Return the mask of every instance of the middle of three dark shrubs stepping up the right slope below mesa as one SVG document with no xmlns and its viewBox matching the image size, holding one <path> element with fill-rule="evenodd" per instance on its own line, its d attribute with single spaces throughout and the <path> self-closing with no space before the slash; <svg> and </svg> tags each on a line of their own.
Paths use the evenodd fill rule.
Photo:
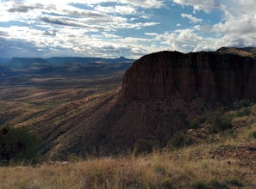
<svg viewBox="0 0 256 189">
<path fill-rule="evenodd" d="M 193 143 L 193 140 L 186 135 L 185 131 L 176 132 L 171 140 L 168 142 L 169 149 L 180 149 L 184 146 L 189 146 Z"/>
</svg>

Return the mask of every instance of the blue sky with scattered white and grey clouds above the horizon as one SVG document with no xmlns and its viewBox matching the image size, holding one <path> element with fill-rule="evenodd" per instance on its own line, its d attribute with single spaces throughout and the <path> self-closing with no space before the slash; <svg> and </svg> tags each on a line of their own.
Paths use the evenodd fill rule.
<svg viewBox="0 0 256 189">
<path fill-rule="evenodd" d="M 0 0 L 0 57 L 256 46 L 255 0 Z"/>
</svg>

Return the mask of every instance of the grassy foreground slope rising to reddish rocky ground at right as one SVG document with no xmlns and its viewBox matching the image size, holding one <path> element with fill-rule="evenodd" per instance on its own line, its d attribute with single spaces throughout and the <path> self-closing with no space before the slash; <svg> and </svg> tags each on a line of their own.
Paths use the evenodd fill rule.
<svg viewBox="0 0 256 189">
<path fill-rule="evenodd" d="M 239 101 L 197 117 L 171 151 L 0 168 L 3 188 L 255 188 L 256 105 Z M 216 116 L 217 115 L 217 116 Z M 222 116 L 229 123 L 213 131 Z M 179 137 L 178 137 L 179 136 Z M 184 143 L 191 141 L 191 143 Z M 173 142 L 173 141 L 171 141 Z M 176 144 L 184 145 L 176 145 Z M 175 147 L 175 149 L 171 147 Z M 29 174 L 28 174 L 29 172 Z"/>
</svg>

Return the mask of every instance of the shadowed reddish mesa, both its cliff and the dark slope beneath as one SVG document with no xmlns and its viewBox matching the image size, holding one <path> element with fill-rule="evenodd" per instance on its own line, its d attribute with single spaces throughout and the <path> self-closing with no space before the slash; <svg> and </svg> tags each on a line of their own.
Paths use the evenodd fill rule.
<svg viewBox="0 0 256 189">
<path fill-rule="evenodd" d="M 52 152 L 111 154 L 132 149 L 139 138 L 165 146 L 198 114 L 245 98 L 255 101 L 255 65 L 253 58 L 220 52 L 147 55 L 126 71 L 115 101 L 108 97 L 92 107 Z"/>
</svg>

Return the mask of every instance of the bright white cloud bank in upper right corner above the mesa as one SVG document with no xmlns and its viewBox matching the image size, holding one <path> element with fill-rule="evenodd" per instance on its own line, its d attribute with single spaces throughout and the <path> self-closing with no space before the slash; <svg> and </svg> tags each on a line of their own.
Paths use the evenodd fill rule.
<svg viewBox="0 0 256 189">
<path fill-rule="evenodd" d="M 212 26 L 197 26 L 203 34 L 215 34 L 218 47 L 256 46 L 256 4 L 253 0 L 228 0 L 222 3 L 222 21 Z"/>
</svg>

